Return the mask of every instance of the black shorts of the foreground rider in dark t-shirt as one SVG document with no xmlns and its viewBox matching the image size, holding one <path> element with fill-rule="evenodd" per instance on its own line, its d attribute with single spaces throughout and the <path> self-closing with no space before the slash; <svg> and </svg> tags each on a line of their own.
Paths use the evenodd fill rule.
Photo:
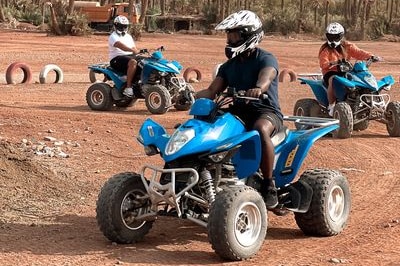
<svg viewBox="0 0 400 266">
<path fill-rule="evenodd" d="M 283 118 L 268 106 L 260 103 L 235 104 L 229 107 L 229 112 L 239 117 L 247 130 L 253 129 L 258 119 L 267 119 L 274 126 L 271 137 L 283 128 Z"/>
</svg>

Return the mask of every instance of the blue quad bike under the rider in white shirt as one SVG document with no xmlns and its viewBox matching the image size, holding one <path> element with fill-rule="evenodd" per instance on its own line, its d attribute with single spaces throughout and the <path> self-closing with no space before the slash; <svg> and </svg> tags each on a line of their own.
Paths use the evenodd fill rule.
<svg viewBox="0 0 400 266">
<path fill-rule="evenodd" d="M 103 74 L 102 82 L 93 83 L 86 92 L 86 102 L 92 110 L 108 111 L 117 107 L 132 106 L 137 99 L 144 99 L 152 114 L 164 114 L 172 106 L 187 111 L 194 102 L 194 89 L 182 77 L 182 66 L 177 61 L 163 58 L 164 47 L 150 53 L 147 49 L 137 55 L 138 68 L 133 78 L 133 97 L 122 94 L 126 87 L 126 75 L 112 69 L 109 63 L 89 66 L 93 82 L 96 74 Z"/>
</svg>

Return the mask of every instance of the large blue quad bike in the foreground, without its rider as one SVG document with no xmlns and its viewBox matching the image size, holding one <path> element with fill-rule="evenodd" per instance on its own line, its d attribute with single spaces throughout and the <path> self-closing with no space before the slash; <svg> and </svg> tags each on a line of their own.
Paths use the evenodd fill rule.
<svg viewBox="0 0 400 266">
<path fill-rule="evenodd" d="M 163 167 L 145 164 L 139 173 L 112 176 L 97 200 L 100 230 L 111 241 L 135 243 L 149 233 L 158 216 L 188 219 L 207 228 L 215 252 L 227 260 L 254 256 L 264 243 L 268 211 L 261 196 L 260 136 L 246 131 L 226 109 L 234 101 L 258 99 L 228 90 L 215 101 L 198 99 L 189 118 L 172 135 L 151 118 L 137 140 L 148 156 L 160 154 Z M 351 196 L 344 175 L 311 169 L 295 181 L 312 144 L 338 127 L 329 118 L 285 117 L 288 123 L 311 125 L 273 137 L 277 214 L 294 212 L 307 235 L 333 236 L 346 226 Z M 286 123 L 285 122 L 285 123 Z"/>
</svg>

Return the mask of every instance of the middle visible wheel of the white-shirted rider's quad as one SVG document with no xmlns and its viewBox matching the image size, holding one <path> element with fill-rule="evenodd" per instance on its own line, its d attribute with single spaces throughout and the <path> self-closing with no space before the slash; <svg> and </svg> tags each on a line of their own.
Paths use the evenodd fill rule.
<svg viewBox="0 0 400 266">
<path fill-rule="evenodd" d="M 171 95 L 162 85 L 150 86 L 146 89 L 145 103 L 152 114 L 165 114 L 171 107 Z"/>
</svg>

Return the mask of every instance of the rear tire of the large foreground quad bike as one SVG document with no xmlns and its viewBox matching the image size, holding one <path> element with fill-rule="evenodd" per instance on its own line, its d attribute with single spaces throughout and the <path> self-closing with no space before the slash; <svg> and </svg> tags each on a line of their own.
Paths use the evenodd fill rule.
<svg viewBox="0 0 400 266">
<path fill-rule="evenodd" d="M 299 228 L 306 235 L 333 236 L 346 227 L 351 195 L 349 183 L 340 172 L 327 169 L 305 171 L 300 180 L 313 189 L 306 213 L 294 213 Z"/>
</svg>

